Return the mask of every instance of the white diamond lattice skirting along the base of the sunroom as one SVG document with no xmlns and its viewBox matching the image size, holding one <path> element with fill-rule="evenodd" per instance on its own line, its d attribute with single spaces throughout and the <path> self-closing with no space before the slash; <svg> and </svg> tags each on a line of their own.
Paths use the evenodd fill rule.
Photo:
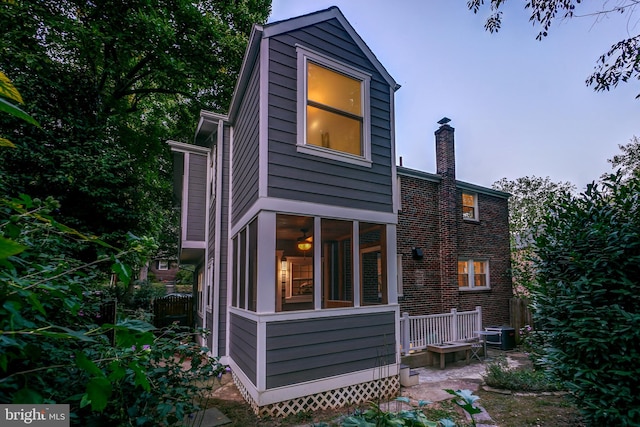
<svg viewBox="0 0 640 427">
<path fill-rule="evenodd" d="M 366 383 L 355 384 L 322 393 L 299 397 L 284 402 L 258 406 L 247 389 L 233 373 L 233 382 L 238 387 L 242 397 L 251 405 L 253 412 L 259 416 L 286 417 L 302 411 L 318 411 L 335 409 L 345 406 L 360 405 L 370 401 L 391 400 L 400 391 L 400 379 L 397 375 Z"/>
</svg>

